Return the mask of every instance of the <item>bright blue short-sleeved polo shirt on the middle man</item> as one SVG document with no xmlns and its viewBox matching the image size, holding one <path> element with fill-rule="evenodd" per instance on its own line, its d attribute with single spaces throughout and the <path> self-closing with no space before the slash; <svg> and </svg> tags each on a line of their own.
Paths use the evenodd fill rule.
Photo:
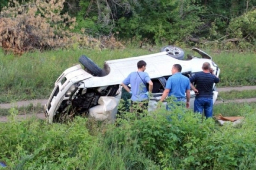
<svg viewBox="0 0 256 170">
<path fill-rule="evenodd" d="M 168 96 L 185 98 L 186 90 L 190 90 L 189 78 L 177 72 L 168 78 L 165 89 L 170 89 Z"/>
</svg>

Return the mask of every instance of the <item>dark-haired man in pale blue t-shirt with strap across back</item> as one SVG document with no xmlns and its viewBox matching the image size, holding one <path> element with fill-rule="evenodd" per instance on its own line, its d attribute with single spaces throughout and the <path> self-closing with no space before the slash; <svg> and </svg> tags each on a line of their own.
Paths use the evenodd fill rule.
<svg viewBox="0 0 256 170">
<path fill-rule="evenodd" d="M 141 60 L 137 63 L 138 71 L 131 72 L 128 77 L 124 79 L 121 85 L 124 89 L 132 94 L 131 104 L 139 105 L 140 109 L 137 112 L 143 112 L 143 109 L 147 109 L 149 93 L 152 93 L 153 83 L 149 77 L 149 75 L 144 72 L 146 70 L 146 62 Z M 147 92 L 146 83 L 149 84 L 149 92 Z M 128 85 L 131 85 L 131 89 Z M 133 110 L 131 110 L 133 111 Z"/>
</svg>

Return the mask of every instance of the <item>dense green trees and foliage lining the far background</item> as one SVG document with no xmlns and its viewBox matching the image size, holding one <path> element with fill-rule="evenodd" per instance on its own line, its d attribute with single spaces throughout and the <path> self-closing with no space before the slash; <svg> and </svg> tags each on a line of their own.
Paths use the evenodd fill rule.
<svg viewBox="0 0 256 170">
<path fill-rule="evenodd" d="M 9 1 L 15 3 L 8 5 Z M 38 37 L 34 37 L 39 40 L 40 34 L 45 30 L 40 32 L 38 27 L 27 22 L 36 20 L 42 24 L 50 24 L 47 27 L 50 34 L 45 38 L 48 38 L 50 42 L 53 38 L 53 42 L 56 41 L 57 44 L 60 38 L 72 37 L 63 32 L 70 29 L 93 37 L 114 34 L 122 40 L 135 39 L 156 44 L 185 42 L 190 45 L 196 43 L 218 48 L 244 49 L 253 48 L 256 43 L 256 0 L 19 0 L 20 3 L 16 2 L 18 1 L 2 0 L 0 4 L 1 22 L 10 23 L 8 27 L 12 27 L 17 24 L 17 20 L 20 20 L 16 27 L 23 29 L 22 26 L 28 25 L 29 28 L 33 28 L 34 34 L 39 34 Z M 27 5 L 28 3 L 36 4 L 38 8 L 34 9 L 35 7 Z M 44 3 L 43 8 L 46 10 L 40 10 L 42 6 L 38 5 L 39 3 Z M 47 3 L 51 10 L 46 7 Z M 3 8 L 6 6 L 7 8 Z M 17 19 L 10 15 L 6 16 L 7 12 L 13 12 L 14 7 L 16 9 L 26 8 L 25 14 L 27 15 L 21 18 L 16 13 Z M 21 14 L 22 10 L 16 10 L 18 11 Z M 75 27 L 72 27 L 74 20 L 70 23 L 69 18 L 72 17 L 76 18 Z M 63 22 L 64 25 L 60 24 Z M 51 34 L 51 29 L 56 32 Z M 14 34 L 12 30 L 8 31 L 9 34 Z M 26 31 L 28 31 L 27 26 Z M 3 36 L 1 32 L 3 30 L 0 30 Z M 18 34 L 17 31 L 15 33 Z M 79 34 L 76 34 L 76 37 Z M 7 38 L 14 39 L 13 37 Z M 62 44 L 63 41 L 65 44 L 74 43 L 68 40 L 73 39 L 61 39 L 61 42 Z M 25 41 L 29 42 L 31 38 L 25 37 L 25 40 L 19 43 L 24 44 Z M 46 41 L 37 45 L 45 48 L 49 43 Z M 88 46 L 88 43 L 82 43 L 82 45 Z M 50 46 L 56 48 L 63 45 Z"/>
</svg>

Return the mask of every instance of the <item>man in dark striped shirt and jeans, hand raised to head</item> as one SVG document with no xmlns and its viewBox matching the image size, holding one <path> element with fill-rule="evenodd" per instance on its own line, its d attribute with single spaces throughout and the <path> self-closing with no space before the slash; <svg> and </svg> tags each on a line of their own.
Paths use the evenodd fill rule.
<svg viewBox="0 0 256 170">
<path fill-rule="evenodd" d="M 194 101 L 194 112 L 203 113 L 206 118 L 212 117 L 212 88 L 214 83 L 219 83 L 220 79 L 214 74 L 208 62 L 203 63 L 203 71 L 190 77 L 190 85 L 196 93 Z M 192 83 L 196 84 L 196 87 Z"/>
</svg>

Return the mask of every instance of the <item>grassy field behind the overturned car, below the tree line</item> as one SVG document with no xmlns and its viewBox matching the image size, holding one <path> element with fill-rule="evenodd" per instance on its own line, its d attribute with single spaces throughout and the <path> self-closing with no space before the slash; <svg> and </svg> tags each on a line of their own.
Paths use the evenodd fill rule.
<svg viewBox="0 0 256 170">
<path fill-rule="evenodd" d="M 33 52 L 22 56 L 4 55 L 0 51 L 0 103 L 48 98 L 55 80 L 70 66 L 78 64 L 84 54 L 99 66 L 105 60 L 140 56 L 158 52 L 127 47 L 123 50 L 58 50 Z M 206 50 L 221 69 L 221 86 L 256 85 L 255 54 L 250 52 L 214 52 Z M 186 49 L 185 53 L 192 53 Z M 170 66 L 171 67 L 171 66 Z"/>
</svg>

